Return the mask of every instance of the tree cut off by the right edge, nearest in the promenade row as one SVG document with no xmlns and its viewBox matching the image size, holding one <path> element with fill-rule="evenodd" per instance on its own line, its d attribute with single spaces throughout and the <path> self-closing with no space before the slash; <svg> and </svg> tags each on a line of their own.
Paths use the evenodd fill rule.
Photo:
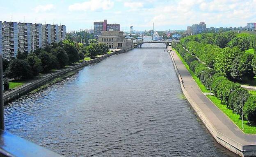
<svg viewBox="0 0 256 157">
<path fill-rule="evenodd" d="M 249 123 L 256 122 L 256 97 L 255 95 L 250 95 L 244 106 L 245 117 L 248 119 Z"/>
</svg>

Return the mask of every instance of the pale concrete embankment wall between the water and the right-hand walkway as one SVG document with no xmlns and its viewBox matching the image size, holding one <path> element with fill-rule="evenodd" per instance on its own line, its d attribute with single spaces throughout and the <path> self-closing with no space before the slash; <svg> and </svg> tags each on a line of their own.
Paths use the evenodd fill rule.
<svg viewBox="0 0 256 157">
<path fill-rule="evenodd" d="M 214 126 L 213 124 L 209 121 L 209 119 L 206 117 L 206 115 L 203 113 L 203 111 L 199 108 L 196 102 L 193 101 L 193 99 L 190 97 L 189 93 L 184 87 L 182 77 L 177 69 L 176 63 L 174 61 L 173 56 L 171 53 L 169 53 L 171 56 L 171 60 L 174 64 L 174 69 L 178 75 L 178 79 L 181 83 L 181 89 L 185 97 L 187 98 L 187 101 L 191 104 L 191 106 L 194 108 L 194 111 L 197 113 L 203 124 L 206 126 L 206 128 L 210 131 L 210 133 L 213 135 L 215 140 L 221 144 L 222 146 L 226 147 L 227 149 L 231 150 L 232 152 L 242 156 L 242 157 L 250 157 L 250 156 L 255 156 L 256 152 L 254 148 L 251 146 L 244 146 L 233 139 L 227 137 L 226 135 L 223 135 L 220 133 Z"/>
</svg>

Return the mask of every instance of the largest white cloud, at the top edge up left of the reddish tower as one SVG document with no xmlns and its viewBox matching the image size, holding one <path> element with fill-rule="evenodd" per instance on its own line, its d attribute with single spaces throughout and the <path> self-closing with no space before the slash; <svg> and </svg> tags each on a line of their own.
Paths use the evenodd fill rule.
<svg viewBox="0 0 256 157">
<path fill-rule="evenodd" d="M 69 6 L 70 11 L 98 11 L 108 10 L 114 6 L 111 0 L 89 0 L 82 3 L 75 3 Z"/>
</svg>

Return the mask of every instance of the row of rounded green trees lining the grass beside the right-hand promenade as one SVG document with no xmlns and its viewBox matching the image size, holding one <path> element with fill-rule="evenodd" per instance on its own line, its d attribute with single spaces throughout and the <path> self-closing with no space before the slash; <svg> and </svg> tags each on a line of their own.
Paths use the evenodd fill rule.
<svg viewBox="0 0 256 157">
<path fill-rule="evenodd" d="M 231 92 L 231 89 L 239 91 L 244 95 L 244 114 L 249 124 L 256 123 L 256 97 L 241 88 L 240 84 L 234 83 L 223 74 L 218 73 L 213 68 L 209 68 L 206 64 L 199 62 L 197 57 L 187 52 L 181 44 L 172 43 L 171 46 L 178 51 L 183 60 L 189 65 L 201 83 L 207 88 L 212 89 L 215 97 L 225 103 L 227 108 L 232 109 L 233 113 L 242 117 L 242 95 L 237 92 Z M 211 77 L 210 77 L 211 75 Z"/>
</svg>

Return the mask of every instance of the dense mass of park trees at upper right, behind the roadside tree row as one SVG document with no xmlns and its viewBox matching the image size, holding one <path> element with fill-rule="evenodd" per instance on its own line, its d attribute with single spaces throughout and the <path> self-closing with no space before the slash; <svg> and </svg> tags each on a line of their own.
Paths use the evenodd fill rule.
<svg viewBox="0 0 256 157">
<path fill-rule="evenodd" d="M 181 39 L 181 44 L 206 66 L 214 68 L 229 80 L 248 82 L 256 75 L 256 35 L 249 33 L 202 33 Z"/>
</svg>

